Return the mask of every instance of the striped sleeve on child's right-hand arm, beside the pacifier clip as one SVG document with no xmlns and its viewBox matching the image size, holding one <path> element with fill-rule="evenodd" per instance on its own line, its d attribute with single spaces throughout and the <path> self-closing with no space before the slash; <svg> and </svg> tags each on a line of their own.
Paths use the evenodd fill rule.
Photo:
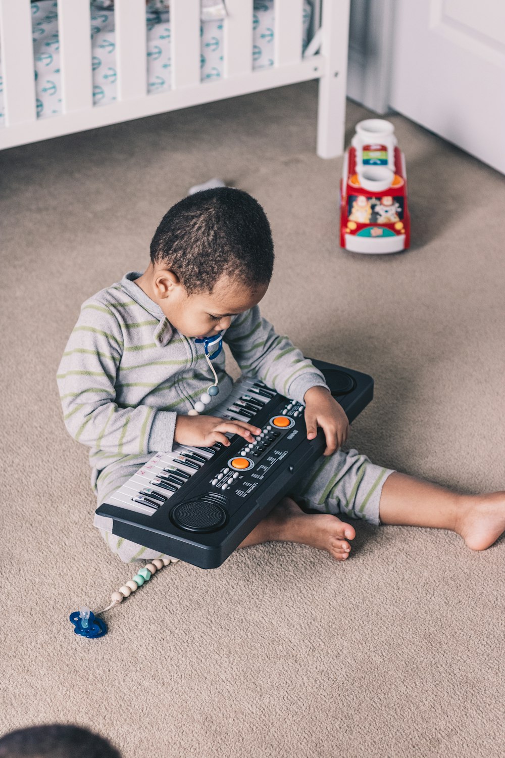
<svg viewBox="0 0 505 758">
<path fill-rule="evenodd" d="M 326 387 L 323 374 L 288 337 L 279 337 L 257 305 L 238 315 L 224 334 L 244 374 L 259 377 L 277 392 L 303 402 L 310 387 Z"/>
</svg>

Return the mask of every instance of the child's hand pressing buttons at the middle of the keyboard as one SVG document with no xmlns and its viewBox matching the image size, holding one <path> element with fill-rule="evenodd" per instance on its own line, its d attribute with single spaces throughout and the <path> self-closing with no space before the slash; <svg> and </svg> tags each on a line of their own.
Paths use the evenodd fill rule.
<svg viewBox="0 0 505 758">
<path fill-rule="evenodd" d="M 248 442 L 254 440 L 253 434 L 260 434 L 260 429 L 245 421 L 231 421 L 217 416 L 183 416 L 178 415 L 176 432 L 173 439 L 181 445 L 192 447 L 210 447 L 216 442 L 228 447 L 231 443 L 225 432 L 240 434 Z"/>
</svg>

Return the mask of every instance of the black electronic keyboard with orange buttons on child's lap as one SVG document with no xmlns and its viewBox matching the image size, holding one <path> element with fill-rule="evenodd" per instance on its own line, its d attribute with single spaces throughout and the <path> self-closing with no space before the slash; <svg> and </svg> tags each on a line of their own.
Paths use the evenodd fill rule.
<svg viewBox="0 0 505 758">
<path fill-rule="evenodd" d="M 322 361 L 332 395 L 349 421 L 373 398 L 367 374 Z M 307 440 L 304 406 L 263 382 L 242 378 L 212 415 L 261 429 L 254 443 L 238 434 L 231 445 L 173 446 L 156 453 L 96 513 L 112 519 L 119 537 L 201 568 L 217 568 L 293 490 L 326 447 L 322 429 Z"/>
</svg>

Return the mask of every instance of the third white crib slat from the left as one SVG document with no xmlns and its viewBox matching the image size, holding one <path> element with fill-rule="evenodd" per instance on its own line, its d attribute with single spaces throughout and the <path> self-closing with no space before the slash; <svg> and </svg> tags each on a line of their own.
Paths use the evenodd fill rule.
<svg viewBox="0 0 505 758">
<path fill-rule="evenodd" d="M 145 0 L 116 0 L 117 99 L 147 95 L 147 30 Z"/>
</svg>

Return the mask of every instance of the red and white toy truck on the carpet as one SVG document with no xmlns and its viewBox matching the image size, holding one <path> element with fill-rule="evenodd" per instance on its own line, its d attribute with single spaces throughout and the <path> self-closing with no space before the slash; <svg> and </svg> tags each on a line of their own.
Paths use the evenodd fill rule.
<svg viewBox="0 0 505 758">
<path fill-rule="evenodd" d="M 410 245 L 405 156 L 394 126 L 360 121 L 344 157 L 340 244 L 351 252 L 401 252 Z"/>
</svg>

